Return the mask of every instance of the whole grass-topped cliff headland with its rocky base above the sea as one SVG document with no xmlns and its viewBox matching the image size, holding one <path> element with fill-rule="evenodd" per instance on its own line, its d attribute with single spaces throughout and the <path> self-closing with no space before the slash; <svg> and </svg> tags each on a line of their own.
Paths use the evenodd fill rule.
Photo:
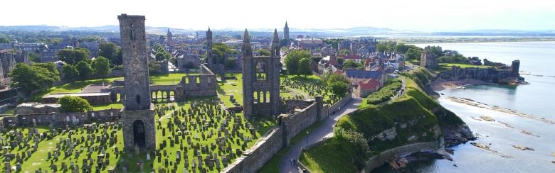
<svg viewBox="0 0 555 173">
<path fill-rule="evenodd" d="M 434 150 L 442 147 L 443 139 L 447 146 L 474 139 L 455 113 L 425 94 L 421 87 L 428 87 L 433 79 L 428 70 L 422 68 L 403 75 L 403 96 L 387 104 L 359 108 L 340 118 L 335 136 L 305 150 L 300 161 L 313 172 L 369 172 L 373 167 L 369 164 L 394 159 L 391 155 L 382 157 L 385 152 L 391 154 L 391 150 L 421 144 L 425 147 L 418 150 Z M 430 145 L 433 143 L 436 145 Z"/>
</svg>

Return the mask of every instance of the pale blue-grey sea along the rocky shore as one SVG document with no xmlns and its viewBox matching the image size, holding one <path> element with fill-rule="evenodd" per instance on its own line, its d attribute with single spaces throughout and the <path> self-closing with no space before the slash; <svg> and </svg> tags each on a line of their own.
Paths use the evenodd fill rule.
<svg viewBox="0 0 555 173">
<path fill-rule="evenodd" d="M 529 84 L 486 84 L 438 91 L 439 103 L 456 113 L 477 134 L 473 142 L 490 150 L 465 143 L 451 148 L 452 161 L 411 162 L 404 169 L 393 171 L 384 166 L 374 172 L 555 172 L 555 124 L 447 99 L 449 96 L 472 99 L 555 121 L 555 42 L 417 44 L 421 48 L 426 45 L 439 45 L 466 57 L 509 65 L 512 60 L 520 60 L 521 75 Z M 484 121 L 482 116 L 494 121 Z M 533 150 L 517 149 L 514 145 Z"/>
</svg>

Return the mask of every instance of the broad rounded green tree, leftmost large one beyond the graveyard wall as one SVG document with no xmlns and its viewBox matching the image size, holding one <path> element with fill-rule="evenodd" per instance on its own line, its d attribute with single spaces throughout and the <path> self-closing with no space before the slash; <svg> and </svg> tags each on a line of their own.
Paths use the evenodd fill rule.
<svg viewBox="0 0 555 173">
<path fill-rule="evenodd" d="M 52 86 L 54 82 L 60 80 L 60 74 L 54 73 L 51 69 L 29 66 L 25 63 L 18 63 L 9 76 L 11 77 L 12 87 L 20 87 L 26 91 L 43 89 L 43 87 Z"/>
</svg>

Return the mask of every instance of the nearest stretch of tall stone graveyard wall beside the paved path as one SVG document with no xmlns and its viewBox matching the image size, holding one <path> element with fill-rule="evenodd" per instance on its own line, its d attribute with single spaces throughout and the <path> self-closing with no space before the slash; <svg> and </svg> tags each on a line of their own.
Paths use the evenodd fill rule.
<svg viewBox="0 0 555 173">
<path fill-rule="evenodd" d="M 283 130 L 275 127 L 265 133 L 253 147 L 241 155 L 235 162 L 228 165 L 222 172 L 257 172 L 264 164 L 281 150 L 283 146 Z"/>
</svg>

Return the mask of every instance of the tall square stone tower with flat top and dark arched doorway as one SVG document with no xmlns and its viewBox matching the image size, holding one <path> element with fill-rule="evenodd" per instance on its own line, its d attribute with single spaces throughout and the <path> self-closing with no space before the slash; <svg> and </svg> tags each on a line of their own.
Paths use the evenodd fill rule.
<svg viewBox="0 0 555 173">
<path fill-rule="evenodd" d="M 154 150 L 154 105 L 150 101 L 147 39 L 144 16 L 117 16 L 125 79 L 124 108 L 122 108 L 123 142 L 125 150 L 134 146 Z"/>
</svg>

